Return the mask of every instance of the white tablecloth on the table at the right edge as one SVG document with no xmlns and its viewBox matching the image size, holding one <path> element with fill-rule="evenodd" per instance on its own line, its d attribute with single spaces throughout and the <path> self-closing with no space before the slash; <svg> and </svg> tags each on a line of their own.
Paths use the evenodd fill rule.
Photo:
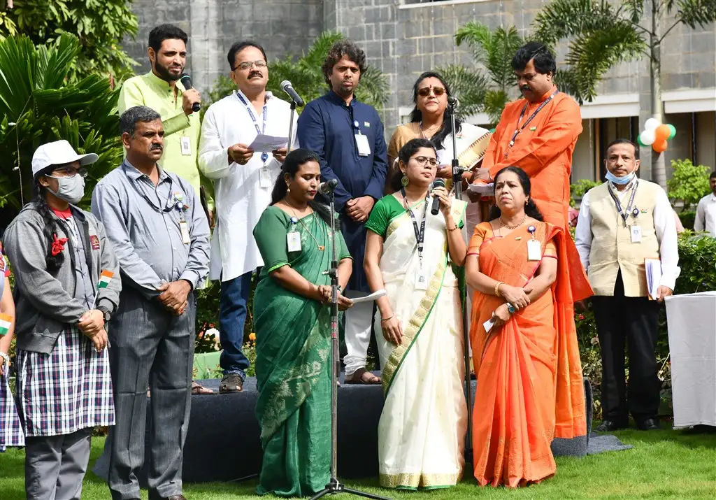
<svg viewBox="0 0 716 500">
<path fill-rule="evenodd" d="M 716 426 L 716 292 L 668 297 L 674 427 Z"/>
</svg>

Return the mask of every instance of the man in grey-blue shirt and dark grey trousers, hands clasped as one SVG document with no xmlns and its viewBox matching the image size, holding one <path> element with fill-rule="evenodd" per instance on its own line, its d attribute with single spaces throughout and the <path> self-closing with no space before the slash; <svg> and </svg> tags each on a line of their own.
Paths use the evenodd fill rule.
<svg viewBox="0 0 716 500">
<path fill-rule="evenodd" d="M 189 423 L 196 302 L 208 274 L 209 226 L 190 183 L 163 170 L 160 115 L 145 106 L 120 117 L 127 157 L 97 183 L 92 213 L 120 261 L 122 294 L 110 327 L 117 421 L 106 447 L 112 499 L 140 498 L 150 387 L 150 498 L 184 500 L 181 467 Z"/>
</svg>

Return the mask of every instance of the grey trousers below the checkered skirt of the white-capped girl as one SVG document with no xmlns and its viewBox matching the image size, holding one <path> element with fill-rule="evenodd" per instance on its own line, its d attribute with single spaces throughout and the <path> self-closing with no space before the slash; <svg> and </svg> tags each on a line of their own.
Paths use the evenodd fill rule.
<svg viewBox="0 0 716 500">
<path fill-rule="evenodd" d="M 89 462 L 92 428 L 25 438 L 25 494 L 29 500 L 79 500 Z"/>
</svg>

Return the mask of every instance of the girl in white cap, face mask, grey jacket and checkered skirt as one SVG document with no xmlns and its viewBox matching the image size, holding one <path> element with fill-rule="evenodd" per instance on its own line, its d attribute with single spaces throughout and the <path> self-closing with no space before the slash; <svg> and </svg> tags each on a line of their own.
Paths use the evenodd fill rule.
<svg viewBox="0 0 716 500">
<path fill-rule="evenodd" d="M 105 324 L 119 302 L 120 269 L 102 223 L 76 206 L 83 167 L 95 161 L 66 140 L 37 148 L 36 197 L 5 233 L 29 499 L 79 499 L 92 431 L 115 424 Z"/>
</svg>

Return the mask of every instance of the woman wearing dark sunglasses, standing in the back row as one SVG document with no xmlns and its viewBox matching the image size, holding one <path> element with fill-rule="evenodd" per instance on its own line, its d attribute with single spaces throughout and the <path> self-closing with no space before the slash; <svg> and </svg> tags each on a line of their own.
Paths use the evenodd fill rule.
<svg viewBox="0 0 716 500">
<path fill-rule="evenodd" d="M 390 187 L 394 176 L 401 177 L 397 168 L 398 151 L 411 139 L 430 139 L 437 150 L 437 158 L 440 168 L 437 170 L 437 177 L 451 178 L 452 170 L 450 163 L 453 160 L 453 135 L 448 110 L 448 97 L 450 97 L 448 82 L 440 73 L 427 71 L 420 75 L 412 87 L 412 101 L 415 108 L 410 113 L 410 123 L 400 125 L 393 133 L 388 145 L 388 176 L 385 193 L 392 193 Z M 458 147 L 458 159 L 463 168 L 473 168 L 479 163 L 488 140 L 482 140 L 475 144 L 475 141 L 489 134 L 489 130 L 469 123 L 463 123 L 455 117 L 455 129 L 458 130 L 456 145 Z M 472 173 L 465 172 L 463 179 L 470 182 Z M 475 223 L 478 223 L 476 221 Z"/>
</svg>

